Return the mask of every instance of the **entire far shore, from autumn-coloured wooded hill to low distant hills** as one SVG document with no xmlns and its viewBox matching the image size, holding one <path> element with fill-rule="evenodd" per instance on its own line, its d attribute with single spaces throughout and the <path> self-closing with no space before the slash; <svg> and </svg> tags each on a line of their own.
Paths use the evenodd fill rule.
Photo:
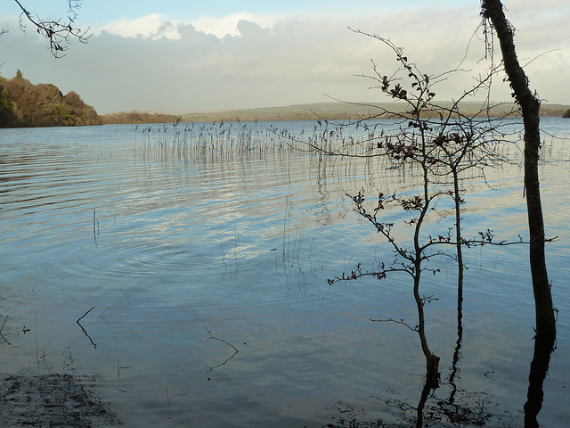
<svg viewBox="0 0 570 428">
<path fill-rule="evenodd" d="M 63 95 L 52 84 L 33 84 L 20 70 L 13 78 L 0 76 L 0 128 L 74 127 L 108 124 L 145 124 L 172 122 L 275 121 L 275 120 L 359 120 L 405 119 L 411 116 L 410 105 L 391 103 L 354 103 L 333 100 L 328 103 L 293 104 L 256 109 L 148 112 L 118 111 L 100 115 L 74 91 Z M 422 109 L 423 118 L 445 118 L 449 111 L 457 113 L 452 102 L 440 102 L 437 108 Z M 514 103 L 462 101 L 460 114 L 469 118 L 517 117 Z M 570 117 L 570 105 L 542 103 L 542 116 Z"/>
</svg>

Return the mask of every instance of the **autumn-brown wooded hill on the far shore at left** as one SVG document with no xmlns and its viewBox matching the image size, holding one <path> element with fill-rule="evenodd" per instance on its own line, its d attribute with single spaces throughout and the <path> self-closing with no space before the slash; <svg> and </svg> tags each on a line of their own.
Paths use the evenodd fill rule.
<svg viewBox="0 0 570 428">
<path fill-rule="evenodd" d="M 52 84 L 32 84 L 20 70 L 0 77 L 0 128 L 101 125 L 97 111 L 77 93 L 61 94 Z"/>
</svg>

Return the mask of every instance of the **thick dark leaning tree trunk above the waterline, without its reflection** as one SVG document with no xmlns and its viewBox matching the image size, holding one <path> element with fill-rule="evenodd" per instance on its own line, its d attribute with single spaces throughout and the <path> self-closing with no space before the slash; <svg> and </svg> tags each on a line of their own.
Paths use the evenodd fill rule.
<svg viewBox="0 0 570 428">
<path fill-rule="evenodd" d="M 530 236 L 530 265 L 533 277 L 537 335 L 556 335 L 556 320 L 544 257 L 544 222 L 538 175 L 541 103 L 529 86 L 515 51 L 513 28 L 505 17 L 500 0 L 483 0 L 483 16 L 493 24 L 501 44 L 502 59 L 513 95 L 523 113 L 525 124 L 525 193 Z"/>
</svg>

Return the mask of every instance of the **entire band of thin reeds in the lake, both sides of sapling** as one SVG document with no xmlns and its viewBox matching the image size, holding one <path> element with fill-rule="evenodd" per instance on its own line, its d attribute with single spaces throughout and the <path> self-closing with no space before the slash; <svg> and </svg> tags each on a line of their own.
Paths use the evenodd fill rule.
<svg viewBox="0 0 570 428">
<path fill-rule="evenodd" d="M 522 151 L 519 119 L 496 119 L 490 128 L 500 137 L 487 135 L 489 123 L 471 122 L 484 128 L 494 156 L 519 163 Z M 395 161 L 382 155 L 383 144 L 397 144 L 408 130 L 407 119 L 368 119 L 335 122 L 326 119 L 292 122 L 211 122 L 148 125 L 137 135 L 139 160 L 192 164 L 273 160 L 291 162 L 308 156 L 317 180 L 361 180 L 376 183 L 405 181 L 413 185 L 419 177 L 414 162 Z M 434 119 L 434 129 L 439 125 Z M 137 132 L 141 131 L 137 128 Z M 515 144 L 513 144 L 515 143 Z"/>
</svg>

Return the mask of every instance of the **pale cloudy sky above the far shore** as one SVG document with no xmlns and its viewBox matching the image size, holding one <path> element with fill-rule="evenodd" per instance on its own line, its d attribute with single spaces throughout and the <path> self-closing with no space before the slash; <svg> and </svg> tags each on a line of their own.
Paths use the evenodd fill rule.
<svg viewBox="0 0 570 428">
<path fill-rule="evenodd" d="M 20 0 L 42 18 L 65 17 L 67 0 Z M 504 0 L 530 85 L 544 103 L 570 104 L 570 2 Z M 15 2 L 4 2 L 0 74 L 20 69 L 32 83 L 76 91 L 100 114 L 116 111 L 212 111 L 299 103 L 385 102 L 371 88 L 371 60 L 381 74 L 395 55 L 373 37 L 403 47 L 418 69 L 438 75 L 436 87 L 455 99 L 489 66 L 480 0 L 84 0 L 72 41 L 54 59 L 45 39 L 19 26 Z M 498 45 L 497 45 L 498 48 Z M 499 54 L 497 54 L 499 58 Z M 481 95 L 483 96 L 483 95 Z M 502 76 L 492 98 L 510 101 Z"/>
</svg>

